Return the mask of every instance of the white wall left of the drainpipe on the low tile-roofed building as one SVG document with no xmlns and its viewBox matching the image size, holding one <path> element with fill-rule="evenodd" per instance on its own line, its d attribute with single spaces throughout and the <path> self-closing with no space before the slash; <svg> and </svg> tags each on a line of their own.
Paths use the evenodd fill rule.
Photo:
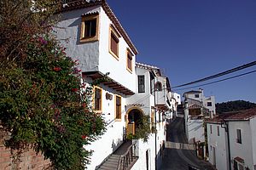
<svg viewBox="0 0 256 170">
<path fill-rule="evenodd" d="M 212 133 L 210 126 L 212 125 Z M 219 127 L 219 136 L 217 133 L 217 127 Z M 216 168 L 218 170 L 229 169 L 228 160 L 228 143 L 225 129 L 220 124 L 207 123 L 207 139 L 209 150 L 209 161 L 213 165 L 212 147 L 215 148 L 215 160 Z"/>
</svg>

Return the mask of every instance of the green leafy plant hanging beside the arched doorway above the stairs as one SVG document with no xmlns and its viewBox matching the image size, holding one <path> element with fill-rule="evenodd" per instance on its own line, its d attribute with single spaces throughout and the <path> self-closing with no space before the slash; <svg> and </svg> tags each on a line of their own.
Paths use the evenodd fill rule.
<svg viewBox="0 0 256 170">
<path fill-rule="evenodd" d="M 156 128 L 151 127 L 150 116 L 141 116 L 137 122 L 138 126 L 135 134 L 128 134 L 127 139 L 143 139 L 144 142 L 148 141 L 151 133 L 156 133 Z"/>
</svg>

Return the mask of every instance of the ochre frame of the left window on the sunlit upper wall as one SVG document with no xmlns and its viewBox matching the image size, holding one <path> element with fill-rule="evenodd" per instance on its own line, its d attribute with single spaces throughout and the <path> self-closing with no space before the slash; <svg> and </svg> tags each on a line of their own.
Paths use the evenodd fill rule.
<svg viewBox="0 0 256 170">
<path fill-rule="evenodd" d="M 112 42 L 112 38 L 113 37 L 115 38 L 115 40 L 117 40 L 117 42 L 116 42 L 117 43 L 116 54 L 115 54 L 115 52 L 112 51 L 112 43 L 111 42 Z M 120 35 L 119 35 L 118 31 L 114 28 L 113 25 L 110 25 L 109 26 L 109 42 L 108 42 L 109 45 L 108 45 L 108 51 L 117 60 L 119 60 L 119 37 L 120 37 Z"/>
</svg>

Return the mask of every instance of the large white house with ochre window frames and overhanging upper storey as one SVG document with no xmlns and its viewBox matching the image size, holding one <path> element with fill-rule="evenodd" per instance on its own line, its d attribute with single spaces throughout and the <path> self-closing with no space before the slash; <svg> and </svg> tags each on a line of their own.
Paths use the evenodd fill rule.
<svg viewBox="0 0 256 170">
<path fill-rule="evenodd" d="M 137 48 L 106 1 L 66 2 L 55 31 L 67 55 L 79 59 L 83 82 L 109 72 L 109 81 L 94 87 L 94 109 L 107 122 L 107 131 L 86 146 L 94 151 L 88 169 L 114 169 L 127 160 L 129 169 L 153 170 L 155 165 L 160 169 L 166 140 L 164 116 L 170 109 L 168 78 L 156 67 L 136 67 Z M 127 135 L 136 133 L 137 120 L 145 115 L 157 133 L 149 136 L 148 143 L 127 142 Z"/>
</svg>

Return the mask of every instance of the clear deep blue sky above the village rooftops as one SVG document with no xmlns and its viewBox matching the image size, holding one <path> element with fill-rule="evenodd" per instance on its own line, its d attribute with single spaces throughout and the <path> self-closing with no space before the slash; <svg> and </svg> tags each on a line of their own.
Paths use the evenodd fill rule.
<svg viewBox="0 0 256 170">
<path fill-rule="evenodd" d="M 256 60 L 255 0 L 107 2 L 137 47 L 137 61 L 160 67 L 172 86 Z M 201 88 L 217 102 L 256 102 L 256 73 Z"/>
</svg>

